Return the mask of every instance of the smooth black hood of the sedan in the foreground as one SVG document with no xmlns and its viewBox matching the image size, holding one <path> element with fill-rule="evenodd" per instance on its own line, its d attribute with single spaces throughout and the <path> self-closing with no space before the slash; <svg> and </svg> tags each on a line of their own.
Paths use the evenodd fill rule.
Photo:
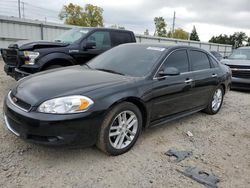
<svg viewBox="0 0 250 188">
<path fill-rule="evenodd" d="M 31 106 L 37 106 L 51 98 L 86 95 L 90 91 L 127 83 L 131 79 L 83 66 L 72 66 L 26 77 L 17 83 L 12 94 Z"/>
</svg>

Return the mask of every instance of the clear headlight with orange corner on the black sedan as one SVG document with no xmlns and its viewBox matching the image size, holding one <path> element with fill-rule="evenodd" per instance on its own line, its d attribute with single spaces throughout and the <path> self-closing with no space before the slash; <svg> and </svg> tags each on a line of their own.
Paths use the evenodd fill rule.
<svg viewBox="0 0 250 188">
<path fill-rule="evenodd" d="M 52 114 L 72 114 L 87 111 L 94 102 L 84 96 L 75 95 L 60 97 L 43 102 L 38 107 L 38 112 Z"/>
</svg>

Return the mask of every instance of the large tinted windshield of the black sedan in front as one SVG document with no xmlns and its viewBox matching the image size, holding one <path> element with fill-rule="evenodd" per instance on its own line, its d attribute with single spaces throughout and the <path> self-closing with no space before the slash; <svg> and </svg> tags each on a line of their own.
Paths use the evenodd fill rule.
<svg viewBox="0 0 250 188">
<path fill-rule="evenodd" d="M 133 77 L 146 76 L 166 49 L 145 45 L 120 45 L 97 56 L 89 63 L 92 69 Z"/>
</svg>

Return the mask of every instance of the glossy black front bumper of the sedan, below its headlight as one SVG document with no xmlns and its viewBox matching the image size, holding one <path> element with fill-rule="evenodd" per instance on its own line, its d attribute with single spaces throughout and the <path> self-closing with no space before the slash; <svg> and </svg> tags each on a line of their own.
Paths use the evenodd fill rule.
<svg viewBox="0 0 250 188">
<path fill-rule="evenodd" d="M 104 113 L 54 115 L 25 112 L 5 98 L 6 127 L 20 138 L 44 145 L 92 146 L 96 143 Z"/>
</svg>

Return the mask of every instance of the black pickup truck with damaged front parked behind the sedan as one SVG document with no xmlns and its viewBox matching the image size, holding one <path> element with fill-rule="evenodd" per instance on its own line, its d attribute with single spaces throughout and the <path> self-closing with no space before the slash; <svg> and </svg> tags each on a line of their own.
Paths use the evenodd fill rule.
<svg viewBox="0 0 250 188">
<path fill-rule="evenodd" d="M 73 28 L 55 42 L 37 41 L 2 49 L 7 75 L 16 80 L 40 71 L 84 64 L 119 44 L 136 42 L 132 31 L 111 28 Z"/>
</svg>

